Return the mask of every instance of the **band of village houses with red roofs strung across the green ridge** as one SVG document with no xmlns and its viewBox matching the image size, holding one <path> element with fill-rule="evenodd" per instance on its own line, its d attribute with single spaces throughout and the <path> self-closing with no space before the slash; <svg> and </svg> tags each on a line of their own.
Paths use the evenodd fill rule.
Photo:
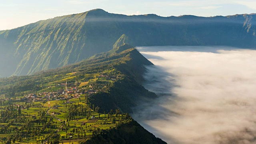
<svg viewBox="0 0 256 144">
<path fill-rule="evenodd" d="M 97 76 L 97 78 L 93 78 L 88 82 L 66 82 L 56 84 L 54 86 L 51 85 L 48 86 L 48 91 L 39 92 L 37 94 L 26 94 L 23 97 L 18 98 L 0 98 L 0 106 L 5 106 L 15 102 L 25 102 L 26 104 L 29 104 L 33 102 L 46 103 L 61 100 L 65 100 L 67 103 L 72 103 L 69 102 L 69 100 L 72 98 L 80 98 L 81 96 L 85 95 L 90 97 L 92 94 L 96 94 L 97 92 L 104 92 L 104 87 L 106 87 L 106 84 L 111 83 L 118 78 L 121 78 L 121 76 L 107 76 L 100 74 Z M 19 106 L 19 104 L 16 104 L 15 106 Z M 26 106 L 21 106 L 22 109 L 26 109 Z"/>
</svg>

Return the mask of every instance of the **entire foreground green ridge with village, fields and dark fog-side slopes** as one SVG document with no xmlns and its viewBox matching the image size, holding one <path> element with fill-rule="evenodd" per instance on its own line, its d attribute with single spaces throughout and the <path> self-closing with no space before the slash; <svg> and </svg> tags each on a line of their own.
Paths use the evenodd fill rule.
<svg viewBox="0 0 256 144">
<path fill-rule="evenodd" d="M 165 144 L 128 114 L 140 98 L 156 98 L 140 85 L 145 65 L 152 63 L 123 44 L 62 68 L 0 78 L 0 141 Z"/>
</svg>

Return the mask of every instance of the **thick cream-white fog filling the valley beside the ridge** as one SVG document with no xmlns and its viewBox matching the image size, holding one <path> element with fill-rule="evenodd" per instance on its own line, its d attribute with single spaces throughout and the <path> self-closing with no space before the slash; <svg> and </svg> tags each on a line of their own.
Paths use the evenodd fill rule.
<svg viewBox="0 0 256 144">
<path fill-rule="evenodd" d="M 155 66 L 144 87 L 160 96 L 133 117 L 168 144 L 256 143 L 256 50 L 138 47 Z"/>
</svg>

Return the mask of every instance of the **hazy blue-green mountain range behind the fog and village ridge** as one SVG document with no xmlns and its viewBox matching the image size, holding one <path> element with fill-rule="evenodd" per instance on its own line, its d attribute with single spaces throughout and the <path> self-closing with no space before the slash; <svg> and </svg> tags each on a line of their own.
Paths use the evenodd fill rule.
<svg viewBox="0 0 256 144">
<path fill-rule="evenodd" d="M 28 75 L 133 46 L 256 47 L 256 15 L 126 16 L 101 9 L 0 31 L 0 76 Z"/>
</svg>

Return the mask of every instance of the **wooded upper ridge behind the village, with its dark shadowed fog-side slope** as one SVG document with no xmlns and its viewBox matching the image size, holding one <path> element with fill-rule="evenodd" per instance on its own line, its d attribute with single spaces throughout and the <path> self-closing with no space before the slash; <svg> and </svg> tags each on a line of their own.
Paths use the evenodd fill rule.
<svg viewBox="0 0 256 144">
<path fill-rule="evenodd" d="M 121 78 L 112 83 L 100 81 L 98 78 L 96 85 L 106 83 L 107 87 L 94 94 L 90 101 L 107 111 L 120 109 L 123 112 L 132 112 L 131 107 L 136 105 L 136 100 L 139 98 L 156 97 L 154 93 L 140 85 L 143 81 L 142 74 L 145 72 L 145 65 L 152 65 L 152 63 L 132 46 L 124 44 L 109 52 L 62 68 L 38 72 L 31 76 L 0 78 L 0 94 L 6 97 L 16 97 L 22 95 L 23 92 L 44 91 L 45 86 L 57 86 L 66 81 L 86 82 L 97 78 L 92 76 L 100 74 L 120 75 Z"/>
</svg>

